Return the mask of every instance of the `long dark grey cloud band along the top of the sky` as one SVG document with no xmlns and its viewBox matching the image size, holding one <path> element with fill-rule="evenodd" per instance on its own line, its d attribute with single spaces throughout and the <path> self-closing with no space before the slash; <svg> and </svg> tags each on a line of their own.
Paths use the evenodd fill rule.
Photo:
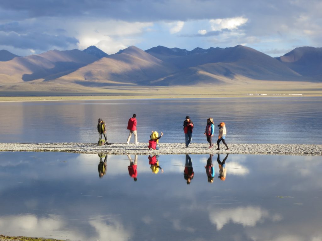
<svg viewBox="0 0 322 241">
<path fill-rule="evenodd" d="M 278 0 L 0 0 L 0 9 L 17 11 L 29 18 L 86 16 L 130 22 L 227 18 L 249 12 L 272 16 L 285 15 L 290 7 L 292 11 L 300 10 L 300 7 L 291 4 L 291 1 Z"/>
</svg>

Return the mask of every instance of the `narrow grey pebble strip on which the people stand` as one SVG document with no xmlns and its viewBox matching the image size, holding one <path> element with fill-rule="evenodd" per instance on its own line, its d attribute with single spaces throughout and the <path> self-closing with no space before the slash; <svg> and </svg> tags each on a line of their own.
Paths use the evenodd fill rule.
<svg viewBox="0 0 322 241">
<path fill-rule="evenodd" d="M 0 151 L 60 151 L 88 154 L 109 155 L 168 155 L 168 154 L 262 154 L 262 155 L 297 155 L 321 156 L 322 145 L 307 144 L 229 144 L 229 150 L 221 145 L 216 150 L 216 144 L 208 148 L 208 144 L 191 143 L 185 147 L 184 143 L 159 143 L 160 150 L 149 150 L 147 143 L 113 143 L 98 146 L 97 143 L 0 143 Z"/>
</svg>

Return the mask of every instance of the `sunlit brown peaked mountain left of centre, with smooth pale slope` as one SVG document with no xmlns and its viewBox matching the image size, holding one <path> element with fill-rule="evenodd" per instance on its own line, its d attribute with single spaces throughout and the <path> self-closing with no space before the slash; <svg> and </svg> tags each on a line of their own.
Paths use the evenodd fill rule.
<svg viewBox="0 0 322 241">
<path fill-rule="evenodd" d="M 147 85 L 151 80 L 167 76 L 175 70 L 165 65 L 162 60 L 131 46 L 55 81 L 73 82 L 85 86 Z"/>
</svg>

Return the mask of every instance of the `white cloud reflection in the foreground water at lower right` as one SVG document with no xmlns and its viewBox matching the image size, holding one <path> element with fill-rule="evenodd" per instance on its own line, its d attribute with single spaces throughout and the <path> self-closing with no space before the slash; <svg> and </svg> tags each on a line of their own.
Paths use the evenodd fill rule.
<svg viewBox="0 0 322 241">
<path fill-rule="evenodd" d="M 263 222 L 264 219 L 279 221 L 282 217 L 278 214 L 270 215 L 267 210 L 263 210 L 260 207 L 239 207 L 235 209 L 211 211 L 209 219 L 216 225 L 217 230 L 220 230 L 225 224 L 229 223 L 229 221 L 242 224 L 243 227 L 255 227 L 256 223 Z"/>
</svg>

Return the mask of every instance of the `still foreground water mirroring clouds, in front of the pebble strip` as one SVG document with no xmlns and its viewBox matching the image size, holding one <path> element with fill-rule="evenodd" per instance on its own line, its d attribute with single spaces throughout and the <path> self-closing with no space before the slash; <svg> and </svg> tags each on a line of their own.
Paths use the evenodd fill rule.
<svg viewBox="0 0 322 241">
<path fill-rule="evenodd" d="M 209 155 L 108 156 L 0 153 L 0 233 L 70 240 L 321 240 L 320 156 L 229 155 L 213 183 Z M 223 161 L 226 155 L 220 155 Z M 135 156 L 131 156 L 134 161 Z M 104 157 L 102 157 L 104 160 Z"/>
</svg>

